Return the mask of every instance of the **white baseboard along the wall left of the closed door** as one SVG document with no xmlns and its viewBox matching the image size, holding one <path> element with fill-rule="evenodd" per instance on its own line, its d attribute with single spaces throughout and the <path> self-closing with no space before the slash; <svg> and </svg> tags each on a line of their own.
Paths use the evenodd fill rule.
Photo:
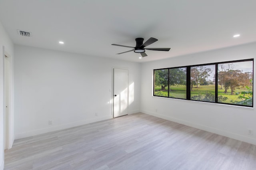
<svg viewBox="0 0 256 170">
<path fill-rule="evenodd" d="M 112 115 L 110 115 L 110 116 L 105 116 L 105 117 L 97 117 L 97 118 L 94 118 L 94 119 L 87 119 L 87 120 L 84 120 L 84 121 L 68 123 L 68 124 L 65 124 L 65 125 L 57 125 L 57 126 L 51 126 L 49 128 L 31 130 L 31 131 L 28 131 L 28 132 L 15 134 L 15 139 L 26 138 L 26 137 L 29 137 L 29 136 L 35 136 L 35 135 L 38 135 L 38 134 L 44 134 L 44 133 L 53 132 L 53 131 L 56 131 L 56 130 L 62 130 L 62 129 L 66 129 L 66 128 L 77 127 L 77 126 L 80 126 L 80 125 L 85 125 L 85 124 L 88 124 L 88 123 L 103 121 L 103 120 L 112 119 L 112 118 L 113 118 Z"/>
</svg>

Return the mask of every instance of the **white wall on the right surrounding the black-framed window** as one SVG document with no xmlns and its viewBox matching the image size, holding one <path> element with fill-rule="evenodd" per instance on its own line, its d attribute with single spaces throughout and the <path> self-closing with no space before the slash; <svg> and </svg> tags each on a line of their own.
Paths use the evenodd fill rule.
<svg viewBox="0 0 256 170">
<path fill-rule="evenodd" d="M 256 58 L 256 43 L 142 63 L 141 112 L 256 144 L 253 108 L 152 97 L 153 69 L 251 58 Z M 254 134 L 248 135 L 248 129 Z"/>
</svg>

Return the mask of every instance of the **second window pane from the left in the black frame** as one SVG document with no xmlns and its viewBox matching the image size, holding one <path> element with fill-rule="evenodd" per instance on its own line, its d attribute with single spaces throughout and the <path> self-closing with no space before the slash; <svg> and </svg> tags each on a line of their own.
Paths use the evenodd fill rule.
<svg viewBox="0 0 256 170">
<path fill-rule="evenodd" d="M 169 97 L 186 99 L 186 67 L 169 69 Z"/>
</svg>

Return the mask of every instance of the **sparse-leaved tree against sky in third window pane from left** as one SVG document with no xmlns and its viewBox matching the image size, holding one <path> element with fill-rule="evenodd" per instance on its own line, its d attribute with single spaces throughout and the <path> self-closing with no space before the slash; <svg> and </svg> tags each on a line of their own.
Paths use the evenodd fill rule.
<svg viewBox="0 0 256 170">
<path fill-rule="evenodd" d="M 193 85 L 196 85 L 198 88 L 199 84 L 203 84 L 204 80 L 206 80 L 210 73 L 212 73 L 212 69 L 204 67 L 204 66 L 197 66 L 191 67 L 190 69 L 190 83 L 191 83 L 191 90 L 193 89 Z"/>
</svg>

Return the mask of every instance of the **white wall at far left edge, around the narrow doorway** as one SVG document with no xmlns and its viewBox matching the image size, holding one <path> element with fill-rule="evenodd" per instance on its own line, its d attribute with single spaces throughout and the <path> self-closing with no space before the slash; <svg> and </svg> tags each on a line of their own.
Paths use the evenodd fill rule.
<svg viewBox="0 0 256 170">
<path fill-rule="evenodd" d="M 4 54 L 8 53 L 11 57 L 10 63 L 11 63 L 11 107 L 10 107 L 10 121 L 13 123 L 13 67 L 12 67 L 12 60 L 14 57 L 14 45 L 12 41 L 10 40 L 8 34 L 4 30 L 4 27 L 2 26 L 2 23 L 0 22 L 0 169 L 4 168 Z M 12 143 L 14 140 L 14 128 L 12 124 L 12 128 L 10 128 L 10 143 Z"/>
</svg>

